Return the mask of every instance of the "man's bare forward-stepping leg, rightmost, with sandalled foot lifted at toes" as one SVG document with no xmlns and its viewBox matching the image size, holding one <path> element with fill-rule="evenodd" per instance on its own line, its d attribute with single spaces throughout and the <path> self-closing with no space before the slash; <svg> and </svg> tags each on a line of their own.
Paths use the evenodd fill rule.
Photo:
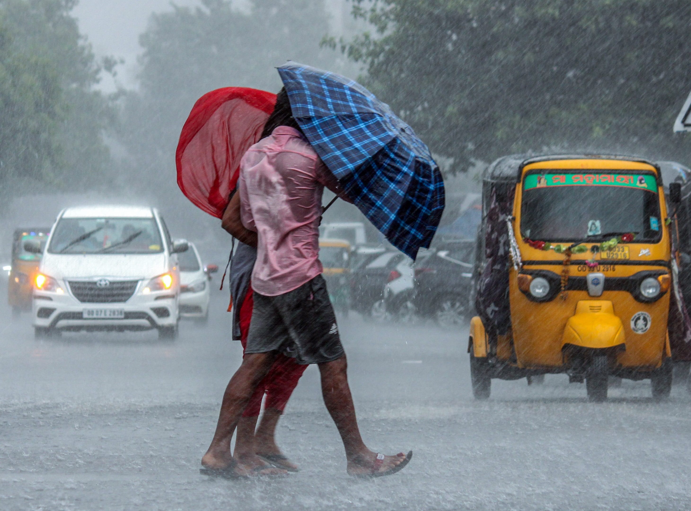
<svg viewBox="0 0 691 511">
<path fill-rule="evenodd" d="M 355 406 L 348 386 L 348 362 L 345 355 L 333 362 L 319 364 L 319 371 L 324 404 L 336 423 L 345 447 L 348 474 L 370 474 L 375 466 L 377 453 L 370 451 L 360 436 Z M 405 456 L 386 456 L 378 471 L 386 472 L 404 459 Z"/>
</svg>

